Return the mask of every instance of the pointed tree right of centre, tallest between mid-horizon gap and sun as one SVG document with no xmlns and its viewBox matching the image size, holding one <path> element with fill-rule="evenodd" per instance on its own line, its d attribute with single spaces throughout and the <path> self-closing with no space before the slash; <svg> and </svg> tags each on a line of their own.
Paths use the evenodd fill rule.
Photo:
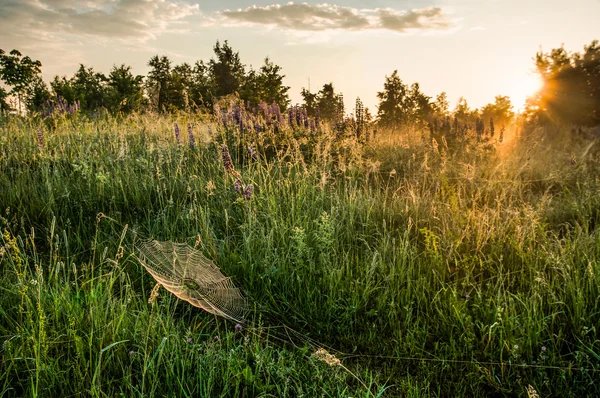
<svg viewBox="0 0 600 398">
<path fill-rule="evenodd" d="M 378 123 L 382 127 L 395 128 L 407 122 L 406 86 L 402 83 L 398 71 L 385 77 L 383 91 L 377 93 L 379 107 Z"/>
</svg>

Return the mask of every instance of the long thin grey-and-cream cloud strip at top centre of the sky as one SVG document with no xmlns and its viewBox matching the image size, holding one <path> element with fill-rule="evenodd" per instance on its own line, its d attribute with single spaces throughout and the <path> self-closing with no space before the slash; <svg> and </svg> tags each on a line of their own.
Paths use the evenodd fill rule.
<svg viewBox="0 0 600 398">
<path fill-rule="evenodd" d="M 382 29 L 407 33 L 448 30 L 455 26 L 455 21 L 439 7 L 397 11 L 390 8 L 356 9 L 326 3 L 287 3 L 225 10 L 221 16 L 232 23 L 308 32 Z"/>
</svg>

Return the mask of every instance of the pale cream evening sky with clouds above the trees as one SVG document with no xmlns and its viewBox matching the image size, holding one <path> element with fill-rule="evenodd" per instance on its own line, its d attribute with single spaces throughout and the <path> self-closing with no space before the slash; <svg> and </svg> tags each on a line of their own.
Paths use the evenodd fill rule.
<svg viewBox="0 0 600 398">
<path fill-rule="evenodd" d="M 0 48 L 39 59 L 49 81 L 81 63 L 144 75 L 156 54 L 208 61 L 228 40 L 247 67 L 280 65 L 292 103 L 333 82 L 348 109 L 360 97 L 376 112 L 394 70 L 434 98 L 445 91 L 451 107 L 508 95 L 520 109 L 539 85 L 536 52 L 600 39 L 600 0 L 327 1 L 0 0 Z"/>
</svg>

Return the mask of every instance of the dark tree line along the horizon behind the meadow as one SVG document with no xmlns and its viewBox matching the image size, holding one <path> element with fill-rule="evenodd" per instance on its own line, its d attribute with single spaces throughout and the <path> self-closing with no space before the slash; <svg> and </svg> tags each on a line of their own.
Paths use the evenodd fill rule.
<svg viewBox="0 0 600 398">
<path fill-rule="evenodd" d="M 146 76 L 135 75 L 127 65 L 114 65 L 108 75 L 80 65 L 75 74 L 56 76 L 48 86 L 41 77 L 40 61 L 19 51 L 0 49 L 0 111 L 23 114 L 50 114 L 77 110 L 85 113 L 106 109 L 112 113 L 133 111 L 212 111 L 219 98 L 237 95 L 247 107 L 275 104 L 282 111 L 291 107 L 290 88 L 284 84 L 282 68 L 269 58 L 259 69 L 247 68 L 239 53 L 227 41 L 217 41 L 214 56 L 193 65 L 179 65 L 166 56 L 154 56 Z M 568 54 L 564 48 L 542 51 L 535 56 L 535 67 L 543 79 L 543 89 L 529 99 L 525 116 L 536 123 L 561 123 L 593 126 L 600 124 L 600 45 L 597 40 L 582 53 Z M 344 97 L 333 83 L 312 93 L 301 91 L 308 116 L 336 122 L 346 117 Z M 406 125 L 428 125 L 455 130 L 467 126 L 478 135 L 491 134 L 508 125 L 514 117 L 506 96 L 480 109 L 471 109 L 460 98 L 449 109 L 446 93 L 435 98 L 424 94 L 418 83 L 405 84 L 398 71 L 386 76 L 383 90 L 377 93 L 376 121 L 381 127 L 398 129 Z M 372 120 L 368 109 L 356 101 L 352 117 Z M 359 109 L 360 108 L 360 109 Z"/>
</svg>

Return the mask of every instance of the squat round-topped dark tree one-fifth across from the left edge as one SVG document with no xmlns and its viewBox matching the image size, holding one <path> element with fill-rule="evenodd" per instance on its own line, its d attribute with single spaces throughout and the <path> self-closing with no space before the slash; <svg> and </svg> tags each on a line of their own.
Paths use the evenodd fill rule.
<svg viewBox="0 0 600 398">
<path fill-rule="evenodd" d="M 131 66 L 113 65 L 108 74 L 107 106 L 112 112 L 129 113 L 143 101 L 142 76 L 134 76 Z"/>
</svg>

